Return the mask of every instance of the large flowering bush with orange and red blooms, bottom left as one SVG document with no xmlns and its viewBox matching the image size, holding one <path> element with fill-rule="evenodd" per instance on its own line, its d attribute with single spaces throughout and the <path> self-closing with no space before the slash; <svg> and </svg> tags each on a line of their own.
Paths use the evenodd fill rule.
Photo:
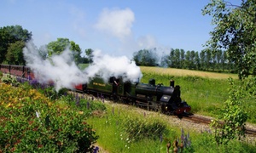
<svg viewBox="0 0 256 153">
<path fill-rule="evenodd" d="M 0 91 L 1 151 L 92 151 L 98 136 L 83 111 L 56 105 L 34 89 L 1 84 Z"/>
</svg>

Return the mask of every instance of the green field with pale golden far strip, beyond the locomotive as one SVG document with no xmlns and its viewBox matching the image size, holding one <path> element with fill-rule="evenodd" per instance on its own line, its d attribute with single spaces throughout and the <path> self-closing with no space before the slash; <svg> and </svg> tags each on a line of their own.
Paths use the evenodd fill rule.
<svg viewBox="0 0 256 153">
<path fill-rule="evenodd" d="M 181 97 L 192 107 L 192 113 L 218 116 L 224 102 L 229 98 L 229 77 L 236 83 L 239 82 L 236 74 L 214 73 L 207 71 L 190 71 L 172 68 L 141 66 L 143 78 L 141 82 L 148 83 L 154 78 L 156 83 L 169 85 L 169 80 L 174 80 L 181 86 Z M 243 104 L 248 113 L 248 122 L 256 123 L 255 99 L 247 99 Z"/>
</svg>

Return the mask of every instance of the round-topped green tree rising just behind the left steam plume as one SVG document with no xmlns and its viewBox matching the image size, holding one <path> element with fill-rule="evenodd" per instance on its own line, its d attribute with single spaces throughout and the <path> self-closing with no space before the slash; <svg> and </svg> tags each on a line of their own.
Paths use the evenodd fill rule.
<svg viewBox="0 0 256 153">
<path fill-rule="evenodd" d="M 51 57 L 53 54 L 61 54 L 67 48 L 73 51 L 75 62 L 79 63 L 81 48 L 75 42 L 70 42 L 68 38 L 57 38 L 57 41 L 49 42 L 47 45 L 47 55 Z"/>
</svg>

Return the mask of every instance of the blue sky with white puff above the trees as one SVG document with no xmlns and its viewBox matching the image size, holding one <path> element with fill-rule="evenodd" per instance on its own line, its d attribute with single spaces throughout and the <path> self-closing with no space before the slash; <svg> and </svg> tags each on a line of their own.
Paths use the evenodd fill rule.
<svg viewBox="0 0 256 153">
<path fill-rule="evenodd" d="M 20 25 L 41 45 L 67 37 L 86 48 L 129 58 L 139 49 L 201 51 L 212 31 L 208 0 L 2 0 L 0 26 Z M 239 4 L 239 0 L 230 0 Z"/>
</svg>

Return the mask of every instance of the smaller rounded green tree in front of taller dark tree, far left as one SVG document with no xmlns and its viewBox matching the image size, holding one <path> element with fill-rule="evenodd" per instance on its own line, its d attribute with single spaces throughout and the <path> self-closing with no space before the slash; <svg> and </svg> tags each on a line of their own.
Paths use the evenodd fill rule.
<svg viewBox="0 0 256 153">
<path fill-rule="evenodd" d="M 6 61 L 9 65 L 25 65 L 25 60 L 23 57 L 23 48 L 25 47 L 25 42 L 17 41 L 9 44 L 7 50 Z"/>
</svg>

